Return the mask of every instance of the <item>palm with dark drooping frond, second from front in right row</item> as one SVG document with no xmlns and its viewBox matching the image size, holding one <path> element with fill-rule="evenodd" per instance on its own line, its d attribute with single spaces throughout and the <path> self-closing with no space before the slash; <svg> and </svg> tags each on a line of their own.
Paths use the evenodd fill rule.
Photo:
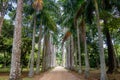
<svg viewBox="0 0 120 80">
<path fill-rule="evenodd" d="M 81 4 L 81 6 L 79 7 L 76 15 L 75 15 L 75 19 L 74 19 L 74 24 L 77 25 L 77 21 L 79 20 L 79 17 L 82 16 L 81 19 L 81 23 L 80 24 L 80 33 L 82 36 L 82 41 L 83 41 L 83 45 L 84 45 L 84 53 L 85 53 L 85 78 L 89 77 L 89 59 L 88 59 L 88 53 L 87 53 L 87 42 L 86 42 L 86 26 L 85 26 L 85 19 L 84 19 L 84 15 L 85 15 L 85 8 L 86 8 L 86 2 L 83 2 Z M 78 30 L 78 28 L 77 28 Z"/>
</svg>

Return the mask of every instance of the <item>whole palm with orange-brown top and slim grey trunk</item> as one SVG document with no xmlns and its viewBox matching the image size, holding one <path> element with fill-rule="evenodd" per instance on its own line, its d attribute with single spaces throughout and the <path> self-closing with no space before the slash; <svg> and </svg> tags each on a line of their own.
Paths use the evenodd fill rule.
<svg viewBox="0 0 120 80">
<path fill-rule="evenodd" d="M 35 0 L 33 3 L 33 8 L 36 11 L 42 10 L 43 7 L 43 1 L 42 0 Z M 34 13 L 34 27 L 33 27 L 33 39 L 32 39 L 32 51 L 30 55 L 30 71 L 29 71 L 29 77 L 32 77 L 34 75 L 34 48 L 35 48 L 35 33 L 36 33 L 36 12 Z"/>
</svg>

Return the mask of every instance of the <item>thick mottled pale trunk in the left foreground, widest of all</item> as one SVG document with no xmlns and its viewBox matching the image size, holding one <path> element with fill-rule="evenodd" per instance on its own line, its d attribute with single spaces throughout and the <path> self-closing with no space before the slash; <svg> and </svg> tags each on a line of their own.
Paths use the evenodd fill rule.
<svg viewBox="0 0 120 80">
<path fill-rule="evenodd" d="M 12 58 L 11 58 L 11 70 L 10 70 L 10 78 L 9 78 L 10 80 L 20 80 L 21 78 L 20 59 L 21 59 L 22 9 L 23 9 L 23 0 L 17 0 L 17 11 L 16 11 Z"/>
</svg>

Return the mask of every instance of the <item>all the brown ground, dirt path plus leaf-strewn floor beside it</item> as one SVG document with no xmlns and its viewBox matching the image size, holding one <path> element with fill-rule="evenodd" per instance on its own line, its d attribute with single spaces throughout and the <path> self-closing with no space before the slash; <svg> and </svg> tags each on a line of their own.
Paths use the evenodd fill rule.
<svg viewBox="0 0 120 80">
<path fill-rule="evenodd" d="M 90 77 L 88 79 L 84 78 L 84 73 L 78 74 L 75 71 L 69 71 L 63 67 L 56 67 L 47 72 L 35 75 L 33 78 L 28 78 L 28 72 L 22 73 L 23 80 L 100 80 L 99 70 L 91 69 Z M 120 80 L 120 73 L 108 75 L 109 80 Z M 0 80 L 8 80 L 8 72 L 0 72 Z"/>
</svg>

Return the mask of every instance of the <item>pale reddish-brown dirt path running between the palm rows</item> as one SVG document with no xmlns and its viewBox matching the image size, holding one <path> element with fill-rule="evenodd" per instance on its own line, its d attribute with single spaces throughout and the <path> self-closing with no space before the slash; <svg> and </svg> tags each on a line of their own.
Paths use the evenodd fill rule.
<svg viewBox="0 0 120 80">
<path fill-rule="evenodd" d="M 42 75 L 36 76 L 34 80 L 83 80 L 77 74 L 69 72 L 63 67 L 56 67 Z"/>
</svg>

